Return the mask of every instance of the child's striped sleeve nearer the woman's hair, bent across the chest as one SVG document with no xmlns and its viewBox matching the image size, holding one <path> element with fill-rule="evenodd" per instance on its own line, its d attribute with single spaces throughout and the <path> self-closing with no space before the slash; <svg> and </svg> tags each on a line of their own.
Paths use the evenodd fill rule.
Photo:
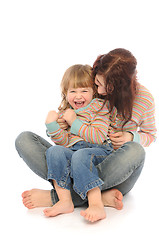
<svg viewBox="0 0 159 240">
<path fill-rule="evenodd" d="M 90 123 L 84 123 L 77 118 L 71 126 L 71 133 L 80 136 L 84 141 L 102 144 L 107 140 L 108 127 L 108 112 L 97 112 Z"/>
</svg>

